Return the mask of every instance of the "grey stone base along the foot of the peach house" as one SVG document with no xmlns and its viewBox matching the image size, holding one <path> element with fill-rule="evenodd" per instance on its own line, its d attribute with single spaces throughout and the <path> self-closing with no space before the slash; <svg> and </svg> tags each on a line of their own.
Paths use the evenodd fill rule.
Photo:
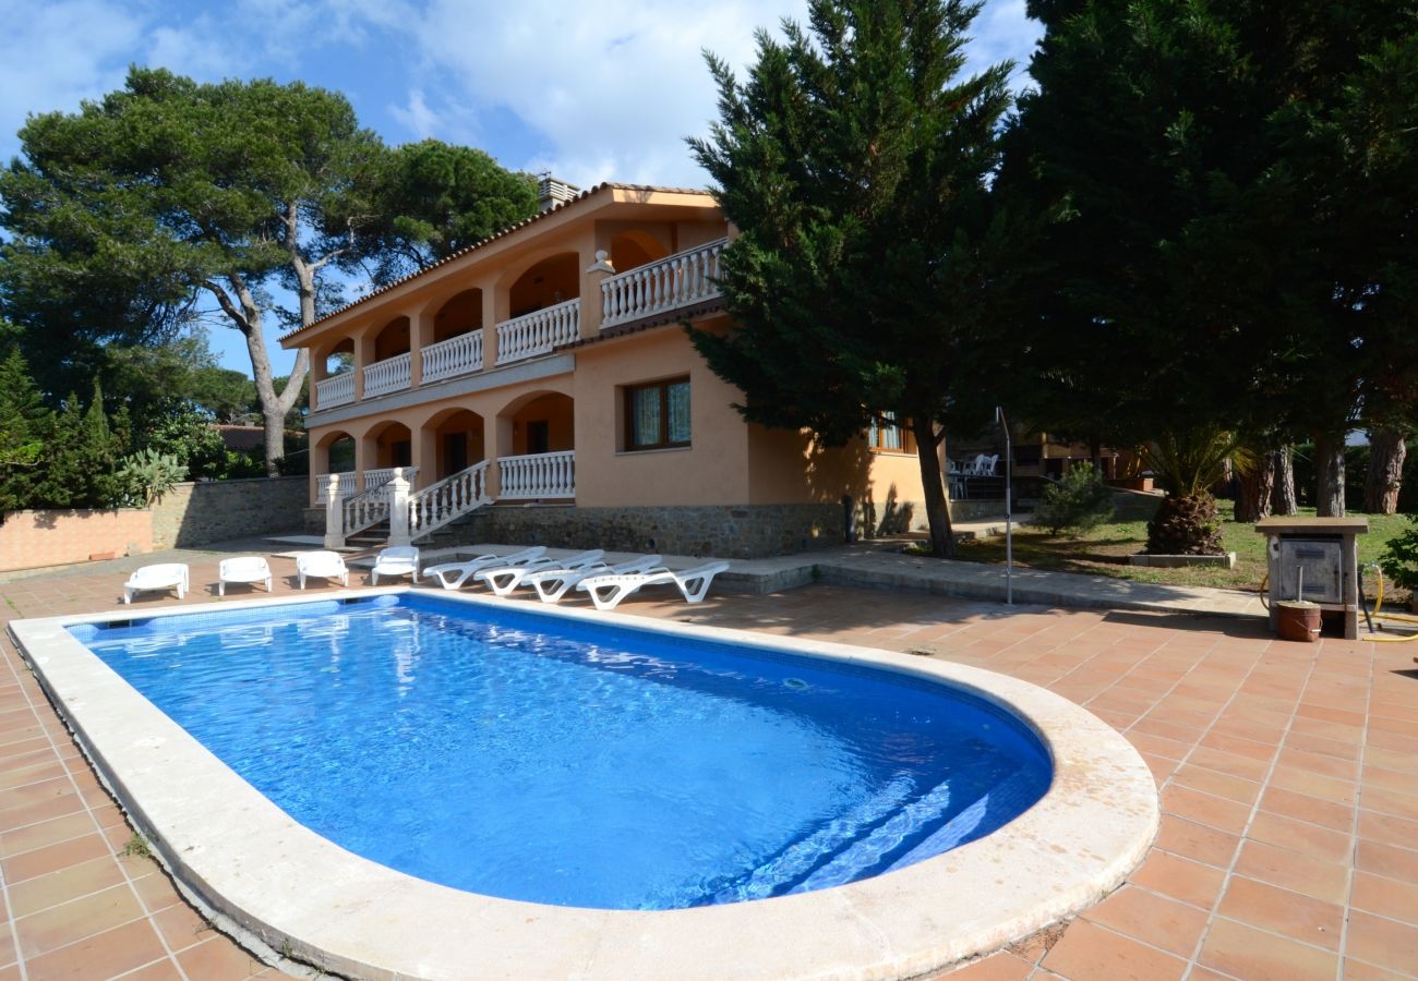
<svg viewBox="0 0 1418 981">
<path fill-rule="evenodd" d="M 459 526 L 467 543 L 546 544 L 720 559 L 763 559 L 842 544 L 835 505 L 740 508 L 493 506 Z"/>
</svg>

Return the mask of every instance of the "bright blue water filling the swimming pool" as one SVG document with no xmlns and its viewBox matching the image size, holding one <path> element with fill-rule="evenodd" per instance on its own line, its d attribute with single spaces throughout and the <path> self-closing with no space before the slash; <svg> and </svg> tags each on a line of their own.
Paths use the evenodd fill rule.
<svg viewBox="0 0 1418 981">
<path fill-rule="evenodd" d="M 508 899 L 835 886 L 994 831 L 1052 774 L 939 683 L 418 594 L 71 632 L 301 824 Z"/>
</svg>

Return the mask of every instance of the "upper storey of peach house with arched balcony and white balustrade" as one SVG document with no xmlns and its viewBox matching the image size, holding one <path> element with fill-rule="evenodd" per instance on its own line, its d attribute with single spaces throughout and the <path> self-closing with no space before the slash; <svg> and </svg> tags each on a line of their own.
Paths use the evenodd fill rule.
<svg viewBox="0 0 1418 981">
<path fill-rule="evenodd" d="M 318 415 L 379 411 L 407 391 L 440 398 L 604 332 L 715 306 L 727 238 L 703 191 L 600 184 L 281 343 L 311 349 Z"/>
</svg>

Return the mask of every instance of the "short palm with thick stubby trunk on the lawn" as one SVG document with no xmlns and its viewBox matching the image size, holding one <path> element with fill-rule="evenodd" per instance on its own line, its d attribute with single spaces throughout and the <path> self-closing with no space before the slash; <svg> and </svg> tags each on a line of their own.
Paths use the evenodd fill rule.
<svg viewBox="0 0 1418 981">
<path fill-rule="evenodd" d="M 1167 488 L 1157 515 L 1147 523 L 1147 551 L 1154 556 L 1219 556 L 1221 516 L 1211 488 L 1227 468 L 1255 465 L 1235 432 L 1188 430 L 1166 432 L 1143 448 L 1143 461 Z"/>
</svg>

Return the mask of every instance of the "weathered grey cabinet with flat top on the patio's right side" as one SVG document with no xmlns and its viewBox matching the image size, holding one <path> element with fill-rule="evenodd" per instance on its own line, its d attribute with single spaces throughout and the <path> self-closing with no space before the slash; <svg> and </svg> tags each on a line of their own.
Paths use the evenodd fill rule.
<svg viewBox="0 0 1418 981">
<path fill-rule="evenodd" d="M 1271 629 L 1278 629 L 1285 600 L 1306 600 L 1322 611 L 1344 614 L 1344 637 L 1358 638 L 1358 544 L 1367 517 L 1266 517 L 1255 530 L 1266 536 L 1271 574 Z"/>
</svg>

